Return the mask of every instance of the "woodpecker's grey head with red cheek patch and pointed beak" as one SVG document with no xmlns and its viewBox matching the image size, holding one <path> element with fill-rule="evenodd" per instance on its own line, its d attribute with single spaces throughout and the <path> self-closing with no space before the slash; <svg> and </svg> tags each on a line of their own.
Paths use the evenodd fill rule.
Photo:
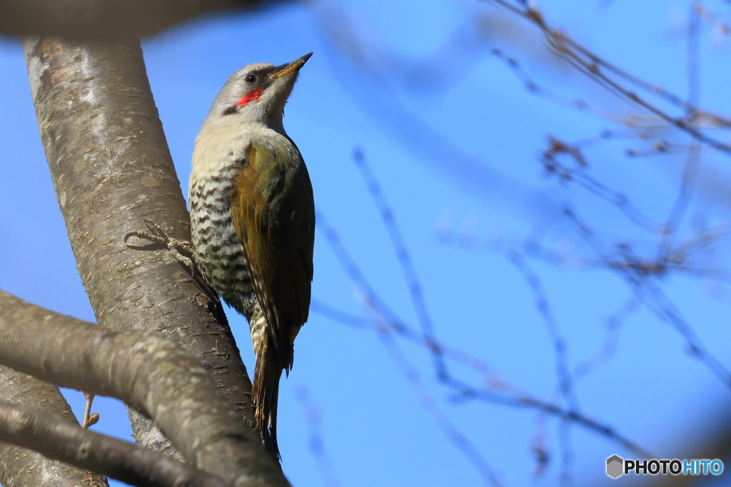
<svg viewBox="0 0 731 487">
<path fill-rule="evenodd" d="M 300 68 L 312 53 L 291 63 L 274 66 L 255 63 L 232 74 L 213 100 L 208 121 L 263 123 L 284 132 L 282 114 Z"/>
</svg>

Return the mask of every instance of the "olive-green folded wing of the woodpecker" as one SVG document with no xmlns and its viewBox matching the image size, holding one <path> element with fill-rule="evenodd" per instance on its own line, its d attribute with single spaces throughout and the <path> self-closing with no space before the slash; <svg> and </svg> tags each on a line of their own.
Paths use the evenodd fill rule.
<svg viewBox="0 0 731 487">
<path fill-rule="evenodd" d="M 289 369 L 292 343 L 310 305 L 312 187 L 296 150 L 284 153 L 297 161 L 278 160 L 274 147 L 262 142 L 251 142 L 245 152 L 235 178 L 231 217 L 281 363 Z"/>
</svg>

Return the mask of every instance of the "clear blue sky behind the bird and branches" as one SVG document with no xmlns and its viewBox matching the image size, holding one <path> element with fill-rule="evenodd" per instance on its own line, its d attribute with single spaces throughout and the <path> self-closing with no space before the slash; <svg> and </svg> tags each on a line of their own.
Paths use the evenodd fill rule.
<svg viewBox="0 0 731 487">
<path fill-rule="evenodd" d="M 687 21 L 688 2 L 554 0 L 540 5 L 554 25 L 595 53 L 685 96 L 687 44 L 678 26 Z M 704 5 L 721 17 L 729 13 L 720 1 Z M 729 47 L 711 30 L 704 23 L 699 37 L 700 102 L 722 115 L 731 102 Z M 494 48 L 518 59 L 542 88 L 588 101 L 621 120 L 637 113 L 550 58 L 537 29 L 489 2 L 311 1 L 249 15 L 216 15 L 143 41 L 183 193 L 194 137 L 229 74 L 251 62 L 282 64 L 314 51 L 287 104 L 284 124 L 308 164 L 319 212 L 380 298 L 404 323 L 418 328 L 387 227 L 354 163 L 354 150 L 362 150 L 404 236 L 436 337 L 485 361 L 496 376 L 491 382 L 454 361 L 450 372 L 491 391 L 497 390 L 495 377 L 501 377 L 525 394 L 560 404 L 552 335 L 526 275 L 510 259 L 511 251 L 523 248 L 511 242 L 540 235 L 546 248 L 575 261 L 593 256 L 563 216 L 567 205 L 591 224 L 607 249 L 625 242 L 649 258 L 657 238 L 594 194 L 546 177 L 539 156 L 547 137 L 575 142 L 605 130 L 629 134 L 587 147 L 586 171 L 657 221 L 667 218 L 678 193 L 684 146 L 676 154 L 645 158 L 626 151 L 652 151 L 660 139 L 682 145 L 689 140 L 657 128 L 656 120 L 635 119 L 649 128 L 629 129 L 529 93 L 491 54 Z M 5 94 L 0 288 L 93 321 L 48 176 L 18 41 L 0 41 L 0 90 Z M 637 137 L 640 131 L 648 138 Z M 721 130 L 709 134 L 728 139 Z M 701 221 L 728 224 L 729 157 L 704 148 L 700 161 L 678 242 L 692 237 Z M 444 234 L 461 237 L 440 238 Z M 700 264 L 694 265 L 725 269 L 727 244 L 720 241 L 713 249 L 698 254 Z M 586 258 L 583 266 L 523 259 L 539 278 L 553 323 L 567 344 L 567 365 L 574 369 L 602 348 L 608 318 L 632 299 L 632 290 L 616 272 L 586 265 Z M 678 273 L 657 284 L 708 353 L 731 368 L 731 301 L 724 284 Z M 313 298 L 374 317 L 322 231 L 315 246 Z M 246 321 L 232 310 L 228 315 L 251 369 Z M 475 468 L 480 461 L 470 461 L 456 448 L 447 430 L 469 440 L 504 486 L 561 484 L 567 450 L 555 419 L 524 408 L 455 400 L 453 391 L 436 380 L 423 347 L 398 338 L 380 340 L 371 328 L 345 326 L 312 312 L 295 350 L 279 404 L 283 467 L 293 485 L 336 485 L 333 480 L 326 484 L 317 467 L 320 457 L 308 446 L 312 418 L 319 421 L 328 475 L 337 485 L 484 485 Z M 677 329 L 646 306 L 622 323 L 616 354 L 575 383 L 581 413 L 660 458 L 692 454 L 723 432 L 730 420 L 730 393 L 689 353 Z M 69 401 L 81 410 L 80 393 L 69 392 Z M 97 398 L 94 410 L 102 415 L 96 431 L 129 440 L 118 401 Z M 574 485 L 609 485 L 605 459 L 615 453 L 632 456 L 579 426 L 569 434 Z M 550 453 L 541 476 L 534 473 L 531 453 L 537 438 Z"/>
</svg>

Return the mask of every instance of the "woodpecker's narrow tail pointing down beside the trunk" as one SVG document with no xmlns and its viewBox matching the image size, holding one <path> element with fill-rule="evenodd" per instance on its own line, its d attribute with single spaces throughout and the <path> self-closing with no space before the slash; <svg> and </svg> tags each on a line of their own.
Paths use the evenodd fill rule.
<svg viewBox="0 0 731 487">
<path fill-rule="evenodd" d="M 265 329 L 266 321 L 262 314 L 254 312 L 251 322 L 251 337 L 257 364 L 254 367 L 254 386 L 251 399 L 254 402 L 254 421 L 262 435 L 264 448 L 277 461 L 281 461 L 276 443 L 276 407 L 279 399 L 279 379 L 284 369 L 273 337 Z"/>
</svg>

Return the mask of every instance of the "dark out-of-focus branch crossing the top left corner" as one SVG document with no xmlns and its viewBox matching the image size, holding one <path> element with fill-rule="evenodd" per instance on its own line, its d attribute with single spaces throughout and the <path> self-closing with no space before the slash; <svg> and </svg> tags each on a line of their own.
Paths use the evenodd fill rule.
<svg viewBox="0 0 731 487">
<path fill-rule="evenodd" d="M 0 34 L 112 39 L 154 34 L 221 9 L 252 9 L 284 0 L 3 0 Z"/>
</svg>

